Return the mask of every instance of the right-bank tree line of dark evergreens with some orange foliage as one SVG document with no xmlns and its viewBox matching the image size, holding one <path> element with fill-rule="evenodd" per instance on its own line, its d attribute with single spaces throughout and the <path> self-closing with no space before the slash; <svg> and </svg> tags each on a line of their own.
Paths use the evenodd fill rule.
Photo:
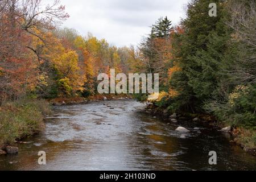
<svg viewBox="0 0 256 182">
<path fill-rule="evenodd" d="M 160 73 L 155 104 L 255 129 L 255 1 L 214 2 L 216 17 L 208 15 L 212 1 L 193 0 L 178 26 L 161 18 L 142 42 L 147 71 Z"/>
</svg>

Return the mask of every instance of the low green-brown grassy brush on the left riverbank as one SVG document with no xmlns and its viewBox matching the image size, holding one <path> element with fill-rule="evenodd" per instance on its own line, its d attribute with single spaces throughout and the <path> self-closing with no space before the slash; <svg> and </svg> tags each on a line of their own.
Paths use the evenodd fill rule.
<svg viewBox="0 0 256 182">
<path fill-rule="evenodd" d="M 44 115 L 51 109 L 43 100 L 6 102 L 0 106 L 0 146 L 44 129 Z"/>
</svg>

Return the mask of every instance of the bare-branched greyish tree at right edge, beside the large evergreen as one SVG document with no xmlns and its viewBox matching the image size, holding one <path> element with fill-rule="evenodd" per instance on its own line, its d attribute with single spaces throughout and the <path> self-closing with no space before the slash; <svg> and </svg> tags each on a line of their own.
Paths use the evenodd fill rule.
<svg viewBox="0 0 256 182">
<path fill-rule="evenodd" d="M 233 39 L 239 42 L 240 55 L 234 70 L 240 82 L 256 83 L 256 6 L 255 0 L 230 1 L 229 10 L 232 14 L 228 26 L 233 28 Z"/>
</svg>

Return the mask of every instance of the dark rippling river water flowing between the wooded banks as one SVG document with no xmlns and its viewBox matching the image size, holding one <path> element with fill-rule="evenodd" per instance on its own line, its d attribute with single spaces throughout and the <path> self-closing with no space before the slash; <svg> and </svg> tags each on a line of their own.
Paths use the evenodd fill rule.
<svg viewBox="0 0 256 182">
<path fill-rule="evenodd" d="M 170 123 L 143 114 L 144 107 L 133 100 L 54 107 L 43 133 L 18 144 L 18 155 L 0 156 L 0 170 L 256 169 L 256 157 L 229 135 L 191 121 Z M 178 126 L 191 133 L 177 133 Z M 46 165 L 38 164 L 39 151 Z M 209 165 L 209 151 L 217 152 L 217 165 Z"/>
</svg>

